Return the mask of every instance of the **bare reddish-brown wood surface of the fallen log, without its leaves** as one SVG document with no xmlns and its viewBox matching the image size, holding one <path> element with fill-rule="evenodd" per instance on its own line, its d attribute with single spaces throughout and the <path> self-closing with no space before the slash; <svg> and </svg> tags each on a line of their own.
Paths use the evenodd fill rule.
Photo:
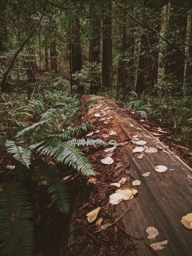
<svg viewBox="0 0 192 256">
<path fill-rule="evenodd" d="M 98 105 L 102 104 L 100 109 L 110 107 L 108 114 L 103 114 L 96 105 L 87 110 L 85 106 L 89 102 Z M 133 135 L 138 135 L 139 140 L 147 141 L 147 147 L 162 147 L 152 134 L 146 131 L 133 118 L 126 113 L 126 108 L 122 109 L 115 101 L 100 96 L 84 96 L 82 99 L 84 108 L 82 109 L 82 123 L 87 121 L 105 122 L 108 119 L 109 131 L 117 131 L 119 141 L 132 140 Z M 109 109 L 107 109 L 109 110 Z M 100 117 L 95 117 L 100 113 Z M 102 121 L 101 121 L 102 120 Z M 130 126 L 131 125 L 131 126 Z M 134 125 L 134 126 L 132 126 Z M 143 147 L 145 147 L 143 146 Z M 179 158 L 169 150 L 158 150 L 156 153 L 146 153 L 143 151 L 143 158 L 138 159 L 140 153 L 133 154 L 133 148 L 136 145 L 129 142 L 125 145 L 125 157 L 131 164 L 130 173 L 132 179 L 123 187 L 133 187 L 133 180 L 140 180 L 141 184 L 137 187 L 138 193 L 129 201 L 122 201 L 116 205 L 119 216 L 129 207 L 131 211 L 123 216 L 128 233 L 135 237 L 145 237 L 145 240 L 139 240 L 136 254 L 132 251 L 131 255 L 150 256 L 152 253 L 147 244 L 162 242 L 168 240 L 165 248 L 158 250 L 159 255 L 165 256 L 189 256 L 192 255 L 192 230 L 183 226 L 181 219 L 192 212 L 192 169 L 184 164 Z M 165 165 L 168 170 L 159 173 L 154 167 Z M 148 177 L 142 174 L 150 172 Z M 154 226 L 158 229 L 159 235 L 155 240 L 148 239 L 146 229 Z M 70 238 L 70 243 L 72 238 Z"/>
</svg>

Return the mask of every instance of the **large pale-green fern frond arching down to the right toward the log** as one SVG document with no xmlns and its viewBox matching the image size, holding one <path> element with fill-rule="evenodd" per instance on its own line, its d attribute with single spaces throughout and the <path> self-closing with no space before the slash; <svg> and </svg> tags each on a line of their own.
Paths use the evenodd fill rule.
<svg viewBox="0 0 192 256">
<path fill-rule="evenodd" d="M 57 163 L 64 162 L 64 164 L 69 164 L 69 166 L 77 169 L 83 175 L 95 175 L 95 171 L 87 161 L 85 154 L 65 142 L 51 139 L 43 140 L 31 145 L 30 149 L 36 149 L 36 152 L 40 152 L 45 156 L 53 156 Z"/>
</svg>

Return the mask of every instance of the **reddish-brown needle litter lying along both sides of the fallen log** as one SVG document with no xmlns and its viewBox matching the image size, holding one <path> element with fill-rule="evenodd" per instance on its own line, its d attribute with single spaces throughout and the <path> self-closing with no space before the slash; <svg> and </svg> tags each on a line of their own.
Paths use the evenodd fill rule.
<svg viewBox="0 0 192 256">
<path fill-rule="evenodd" d="M 89 95 L 84 96 L 81 100 L 81 105 L 84 105 L 89 98 Z M 105 101 L 104 97 L 99 98 Z M 107 101 L 109 101 L 109 103 L 110 101 L 114 102 L 110 99 Z M 159 138 L 165 147 L 168 146 L 173 154 L 192 167 L 192 152 L 181 140 L 171 135 L 169 131 L 160 129 L 159 124 L 149 122 L 147 118 L 142 118 L 140 115 L 136 114 L 135 111 L 125 108 L 117 102 L 116 104 L 122 111 L 137 121 L 151 134 L 160 134 L 155 136 L 157 140 Z M 87 114 L 85 111 L 88 111 L 89 119 L 91 119 L 94 125 L 94 131 L 89 132 L 84 138 L 93 140 L 100 139 L 106 143 L 128 144 L 129 140 L 120 141 L 119 138 L 117 138 L 117 134 L 108 135 L 109 131 L 113 131 L 117 126 L 117 120 L 115 119 L 114 121 L 113 115 L 105 115 L 112 107 L 105 109 L 104 113 L 102 113 L 103 118 L 98 118 L 95 114 L 100 113 L 101 106 L 99 106 L 99 104 L 95 106 L 96 108 L 82 109 L 81 122 L 86 123 L 88 121 L 86 116 L 84 116 Z M 119 119 L 118 122 L 121 121 L 122 120 Z M 132 129 L 132 127 L 130 127 L 130 129 Z M 80 136 L 80 138 L 82 137 Z M 103 147 L 101 147 L 96 144 L 92 148 L 86 146 L 81 147 L 93 168 L 96 170 L 95 177 L 85 177 L 63 165 L 60 166 L 60 169 L 63 170 L 63 178 L 70 188 L 72 197 L 71 214 L 63 219 L 63 214 L 59 213 L 56 204 L 49 204 L 49 201 L 44 202 L 44 207 L 40 213 L 41 218 L 44 219 L 44 223 L 43 228 L 41 225 L 39 226 L 39 230 L 37 230 L 37 240 L 38 243 L 40 242 L 40 246 L 38 245 L 37 247 L 40 249 L 39 252 L 36 252 L 36 256 L 47 255 L 47 253 L 49 253 L 49 255 L 131 255 L 131 252 L 138 255 L 138 241 L 143 240 L 144 237 L 135 237 L 131 232 L 129 234 L 122 221 L 122 217 L 125 214 L 129 214 L 129 211 L 132 209 L 128 207 L 125 212 L 120 215 L 116 209 L 116 205 L 109 204 L 109 196 L 114 193 L 114 187 L 110 186 L 110 183 L 116 183 L 122 177 L 126 177 L 126 182 L 130 181 L 130 178 L 132 178 L 130 174 L 130 163 L 123 155 L 123 146 L 119 146 L 111 152 L 105 152 L 104 150 L 109 147 L 109 145 L 103 145 Z M 103 164 L 101 160 L 105 157 L 112 157 L 113 163 Z M 44 198 L 40 198 L 40 196 L 39 199 L 40 201 L 44 200 Z M 101 209 L 105 209 L 105 211 L 100 211 L 99 219 L 97 218 L 97 221 L 94 221 L 93 224 L 88 223 L 86 214 L 96 209 L 98 206 L 101 207 Z M 45 209 L 47 209 L 47 211 L 45 211 Z M 42 214 L 44 214 L 44 216 L 42 216 Z M 55 214 L 58 215 L 58 223 L 54 221 L 53 216 L 55 216 Z M 56 228 L 58 226 L 59 231 Z M 102 232 L 99 232 L 99 230 L 102 230 Z M 55 244 L 58 245 L 57 248 L 55 248 Z M 159 255 L 149 244 L 145 243 L 145 246 L 147 248 L 146 250 L 149 250 L 149 253 L 151 251 L 151 255 Z M 52 253 L 50 254 L 50 252 Z"/>
</svg>

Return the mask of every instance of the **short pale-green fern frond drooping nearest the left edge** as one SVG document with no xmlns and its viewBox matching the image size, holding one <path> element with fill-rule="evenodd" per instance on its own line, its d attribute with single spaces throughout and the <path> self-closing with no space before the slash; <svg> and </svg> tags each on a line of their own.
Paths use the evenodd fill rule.
<svg viewBox="0 0 192 256">
<path fill-rule="evenodd" d="M 27 148 L 17 146 L 14 141 L 6 140 L 5 147 L 9 154 L 13 154 L 13 157 L 20 163 L 26 165 L 29 168 L 31 164 L 32 152 Z"/>
</svg>

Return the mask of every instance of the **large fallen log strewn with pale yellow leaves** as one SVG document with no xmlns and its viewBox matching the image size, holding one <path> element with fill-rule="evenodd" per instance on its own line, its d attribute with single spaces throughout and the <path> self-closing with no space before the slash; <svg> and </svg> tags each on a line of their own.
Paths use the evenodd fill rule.
<svg viewBox="0 0 192 256">
<path fill-rule="evenodd" d="M 192 230 L 181 223 L 182 217 L 192 212 L 192 169 L 160 141 L 166 131 L 156 128 L 156 131 L 148 132 L 146 119 L 142 121 L 143 125 L 140 125 L 131 117 L 135 115 L 134 111 L 101 96 L 86 95 L 82 98 L 81 104 L 82 123 L 90 121 L 96 127 L 93 138 L 97 136 L 104 141 L 112 139 L 120 143 L 124 149 L 123 157 L 130 164 L 131 178 L 128 178 L 122 187 L 134 187 L 134 180 L 141 182 L 136 186 L 140 193 L 131 200 L 123 200 L 115 206 L 117 216 L 122 216 L 127 233 L 132 237 L 145 238 L 137 240 L 133 247 L 129 247 L 127 255 L 192 255 Z M 95 132 L 96 129 L 98 133 Z M 114 135 L 109 135 L 110 131 L 114 131 Z M 142 152 L 134 153 L 136 147 L 141 147 Z M 158 168 L 155 169 L 157 166 L 165 166 L 166 170 L 159 172 Z M 117 173 L 115 167 L 114 179 Z M 150 174 L 145 177 L 144 173 Z M 128 173 L 124 174 L 126 176 Z M 131 210 L 128 212 L 128 209 Z M 79 235 L 74 235 L 74 220 L 78 218 L 77 215 L 75 211 L 72 216 L 69 248 L 80 240 Z M 159 234 L 150 237 L 146 232 L 148 227 L 155 227 Z M 100 232 L 99 228 L 97 231 Z M 155 250 L 155 247 L 150 246 L 158 242 L 165 242 L 163 249 Z M 89 254 L 85 252 L 82 255 Z M 93 255 L 108 254 L 93 252 Z M 125 254 L 118 252 L 117 255 Z"/>
</svg>

